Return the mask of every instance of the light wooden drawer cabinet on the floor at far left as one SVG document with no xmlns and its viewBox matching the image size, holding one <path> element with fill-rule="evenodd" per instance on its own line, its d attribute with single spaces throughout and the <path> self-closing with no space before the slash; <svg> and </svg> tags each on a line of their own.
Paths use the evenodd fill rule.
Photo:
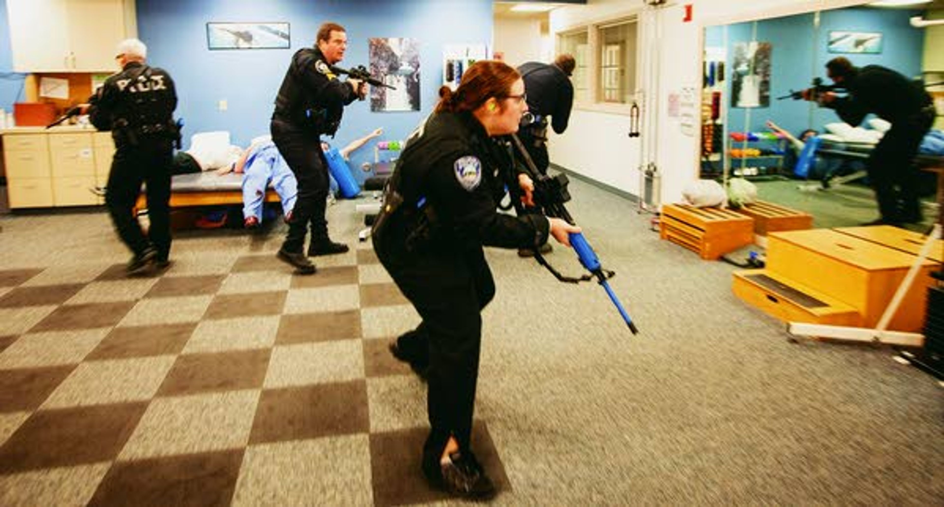
<svg viewBox="0 0 944 507">
<path fill-rule="evenodd" d="M 9 206 L 102 204 L 92 189 L 105 186 L 113 154 L 110 132 L 8 130 L 4 160 Z"/>
</svg>

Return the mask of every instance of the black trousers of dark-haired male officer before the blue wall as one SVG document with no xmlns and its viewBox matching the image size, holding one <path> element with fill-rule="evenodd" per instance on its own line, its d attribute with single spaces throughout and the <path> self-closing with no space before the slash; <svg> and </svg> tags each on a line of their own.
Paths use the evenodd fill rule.
<svg viewBox="0 0 944 507">
<path fill-rule="evenodd" d="M 298 197 L 282 249 L 300 253 L 305 246 L 309 224 L 312 226 L 312 241 L 328 239 L 328 221 L 325 219 L 329 191 L 328 161 L 321 152 L 321 140 L 311 130 L 273 120 L 270 131 L 278 153 L 285 158 L 298 182 Z"/>
</svg>

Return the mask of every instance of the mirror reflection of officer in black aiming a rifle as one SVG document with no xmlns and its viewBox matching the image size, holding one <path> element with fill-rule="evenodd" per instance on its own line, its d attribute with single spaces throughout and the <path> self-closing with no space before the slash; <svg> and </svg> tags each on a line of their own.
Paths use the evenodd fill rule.
<svg viewBox="0 0 944 507">
<path fill-rule="evenodd" d="M 882 215 L 867 225 L 921 221 L 919 169 L 912 159 L 935 121 L 931 95 L 919 81 L 879 65 L 860 69 L 844 57 L 828 61 L 826 73 L 848 95 L 810 89 L 803 91 L 803 98 L 835 109 L 843 122 L 853 126 L 862 123 L 869 113 L 891 123 L 866 161 L 868 182 L 875 190 Z"/>
</svg>

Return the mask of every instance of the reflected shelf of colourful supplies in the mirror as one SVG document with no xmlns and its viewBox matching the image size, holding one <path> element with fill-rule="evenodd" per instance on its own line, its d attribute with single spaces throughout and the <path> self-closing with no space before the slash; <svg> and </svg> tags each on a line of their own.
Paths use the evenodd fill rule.
<svg viewBox="0 0 944 507">
<path fill-rule="evenodd" d="M 735 176 L 781 174 L 788 142 L 773 132 L 732 132 L 724 155 Z"/>
</svg>

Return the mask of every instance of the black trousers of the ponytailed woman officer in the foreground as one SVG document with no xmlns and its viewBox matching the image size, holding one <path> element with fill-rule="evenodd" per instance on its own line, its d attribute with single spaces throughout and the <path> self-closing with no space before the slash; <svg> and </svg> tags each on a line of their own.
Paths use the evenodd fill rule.
<svg viewBox="0 0 944 507">
<path fill-rule="evenodd" d="M 424 463 L 438 466 L 450 436 L 460 450 L 469 449 L 479 379 L 481 309 L 495 296 L 495 280 L 480 247 L 405 254 L 375 238 L 375 248 L 396 286 L 423 319 L 399 344 L 413 351 L 425 346 L 429 353 L 431 430 L 423 455 Z"/>
</svg>

